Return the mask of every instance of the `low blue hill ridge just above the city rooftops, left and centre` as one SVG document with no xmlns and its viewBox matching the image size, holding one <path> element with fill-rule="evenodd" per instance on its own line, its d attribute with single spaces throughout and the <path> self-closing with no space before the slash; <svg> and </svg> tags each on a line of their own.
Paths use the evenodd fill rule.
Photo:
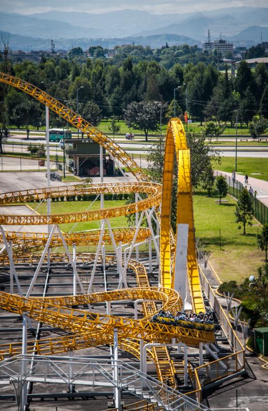
<svg viewBox="0 0 268 411">
<path fill-rule="evenodd" d="M 56 50 L 69 50 L 73 47 L 82 47 L 83 50 L 88 49 L 90 46 L 100 44 L 99 39 L 55 39 Z M 116 45 L 121 44 L 138 44 L 142 46 L 150 46 L 152 48 L 165 46 L 166 42 L 170 45 L 198 45 L 201 46 L 201 42 L 191 39 L 186 36 L 180 36 L 176 34 L 159 34 L 146 37 L 124 37 L 120 39 L 102 39 L 101 46 L 104 48 L 114 48 Z M 12 50 L 50 50 L 50 39 L 33 39 L 28 36 L 21 36 L 19 34 L 10 34 L 10 48 Z"/>
</svg>

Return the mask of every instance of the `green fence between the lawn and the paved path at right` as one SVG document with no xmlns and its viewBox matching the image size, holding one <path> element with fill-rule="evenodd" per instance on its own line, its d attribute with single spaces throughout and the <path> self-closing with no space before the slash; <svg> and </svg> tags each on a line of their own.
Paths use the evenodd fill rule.
<svg viewBox="0 0 268 411">
<path fill-rule="evenodd" d="M 238 198 L 244 188 L 243 184 L 237 180 L 233 180 L 230 176 L 224 175 L 224 177 L 226 178 L 227 184 L 229 186 L 229 194 L 235 198 Z M 256 197 L 252 197 L 252 207 L 254 217 L 261 224 L 268 222 L 268 207 L 266 207 L 263 202 L 258 200 Z"/>
</svg>

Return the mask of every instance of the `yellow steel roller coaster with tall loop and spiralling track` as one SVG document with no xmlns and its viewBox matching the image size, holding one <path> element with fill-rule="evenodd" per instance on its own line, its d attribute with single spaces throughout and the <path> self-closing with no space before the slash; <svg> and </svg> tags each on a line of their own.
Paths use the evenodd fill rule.
<svg viewBox="0 0 268 411">
<path fill-rule="evenodd" d="M 56 197 L 76 195 L 105 195 L 105 194 L 135 194 L 135 202 L 113 208 L 100 208 L 82 212 L 65 214 L 31 214 L 31 215 L 0 215 L 1 238 L 3 248 L 0 252 L 0 262 L 3 267 L 10 267 L 16 281 L 17 293 L 0 292 L 0 308 L 15 314 L 27 313 L 29 319 L 51 327 L 58 327 L 66 332 L 63 337 L 45 338 L 28 341 L 27 352 L 49 356 L 51 354 L 68 353 L 87 347 L 114 344 L 114 330 L 118 332 L 120 349 L 130 352 L 140 359 L 141 342 L 150 344 L 147 350 L 147 361 L 155 364 L 157 378 L 165 383 L 169 380 L 171 388 L 176 387 L 176 364 L 170 357 L 168 345 L 182 343 L 198 347 L 201 343 L 213 343 L 215 335 L 213 329 L 196 329 L 176 325 L 154 323 L 152 316 L 162 310 L 175 314 L 184 309 L 185 296 L 182 298 L 177 289 L 177 266 L 180 265 L 180 252 L 186 253 L 185 278 L 188 289 L 188 303 L 193 312 L 205 312 L 198 261 L 196 258 L 191 165 L 190 152 L 187 147 L 183 124 L 178 119 L 171 119 L 168 123 L 164 157 L 163 184 L 150 182 L 147 175 L 136 162 L 99 129 L 74 113 L 71 109 L 49 96 L 45 91 L 9 74 L 0 73 L 0 82 L 22 90 L 29 96 L 46 105 L 50 110 L 78 128 L 83 138 L 91 138 L 110 153 L 113 159 L 132 174 L 135 181 L 83 183 L 75 185 L 61 185 L 53 188 L 40 188 L 25 191 L 16 191 L 0 194 L 0 206 L 23 204 L 30 201 L 47 201 Z M 170 225 L 171 193 L 174 174 L 174 157 L 178 164 L 177 184 L 177 227 L 187 226 L 186 244 L 178 234 L 174 234 Z M 108 228 L 76 233 L 62 233 L 60 225 L 63 223 L 77 223 L 84 221 L 106 221 L 118 216 L 135 214 L 139 220 L 145 215 L 147 228 Z M 156 239 L 152 227 L 152 216 L 159 227 L 159 238 Z M 137 221 L 137 220 L 136 220 Z M 11 231 L 3 226 L 46 226 L 50 225 L 50 233 L 35 233 L 29 231 Z M 177 230 L 178 233 L 178 230 Z M 140 261 L 117 251 L 116 246 L 131 244 L 131 249 L 139 242 L 153 238 L 156 255 L 159 256 L 158 285 L 151 286 L 147 270 Z M 10 248 L 12 245 L 12 250 Z M 79 252 L 72 259 L 68 247 L 72 245 L 94 245 L 101 249 L 103 245 L 114 245 L 115 254 L 101 255 Z M 56 252 L 56 248 L 63 247 L 65 252 Z M 76 295 L 61 296 L 31 296 L 32 288 L 37 281 L 42 265 L 48 259 L 50 263 L 67 262 L 74 269 L 75 282 L 79 289 Z M 12 252 L 11 252 L 12 251 Z M 93 292 L 93 277 L 90 283 L 80 278 L 76 265 L 81 264 L 112 265 L 118 267 L 118 289 L 105 292 Z M 17 265 L 30 267 L 35 264 L 31 284 L 26 295 L 23 295 L 16 273 Z M 127 272 L 135 274 L 136 287 L 128 287 Z M 181 277 L 180 277 L 181 278 Z M 122 288 L 124 287 L 124 288 Z M 12 290 L 11 290 L 12 291 Z M 143 316 L 140 319 L 124 316 L 97 313 L 92 310 L 96 303 L 110 303 L 122 301 L 140 301 Z M 160 306 L 159 306 L 160 304 Z M 17 356 L 22 352 L 20 342 L 11 342 L 0 345 L 0 359 Z M 200 394 L 200 383 L 196 374 L 196 393 Z M 198 396 L 200 399 L 200 395 Z M 145 407 L 144 400 L 139 409 Z"/>
</svg>

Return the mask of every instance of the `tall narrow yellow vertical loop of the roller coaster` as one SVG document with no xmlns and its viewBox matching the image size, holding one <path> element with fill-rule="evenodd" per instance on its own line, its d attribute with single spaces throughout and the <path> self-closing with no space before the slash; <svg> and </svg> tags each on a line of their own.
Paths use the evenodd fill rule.
<svg viewBox="0 0 268 411">
<path fill-rule="evenodd" d="M 172 253 L 170 241 L 170 211 L 174 156 L 176 156 L 178 164 L 177 224 L 185 223 L 189 225 L 187 250 L 189 289 L 191 292 L 193 310 L 195 312 L 200 312 L 205 311 L 205 306 L 202 297 L 198 262 L 195 251 L 190 151 L 187 148 L 187 141 L 182 122 L 177 119 L 171 119 L 168 123 L 163 173 L 160 259 L 162 267 L 162 286 L 167 288 L 174 286 L 174 276 L 172 275 L 171 269 Z M 176 237 L 176 241 L 180 241 L 180 238 Z"/>
</svg>

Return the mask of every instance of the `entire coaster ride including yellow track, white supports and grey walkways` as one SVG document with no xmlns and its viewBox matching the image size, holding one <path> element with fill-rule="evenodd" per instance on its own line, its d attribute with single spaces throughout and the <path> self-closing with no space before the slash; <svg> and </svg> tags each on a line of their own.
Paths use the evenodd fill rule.
<svg viewBox="0 0 268 411">
<path fill-rule="evenodd" d="M 136 397 L 133 408 L 131 405 L 124 408 L 128 410 L 208 409 L 200 404 L 202 386 L 243 372 L 244 348 L 224 311 L 217 305 L 215 294 L 205 277 L 199 272 L 190 153 L 181 121 L 174 118 L 168 123 L 163 184 L 157 184 L 148 180 L 147 175 L 117 143 L 45 91 L 5 73 L 0 73 L 0 82 L 24 91 L 77 127 L 83 138 L 97 142 L 100 145 L 100 160 L 101 147 L 104 147 L 124 176 L 122 182 L 103 182 L 103 171 L 100 170 L 100 183 L 48 185 L 37 190 L 0 194 L 0 206 L 38 200 L 47 202 L 48 210 L 50 200 L 56 197 L 90 194 L 101 199 L 98 210 L 67 214 L 0 215 L 0 242 L 3 245 L 0 263 L 9 273 L 9 282 L 5 284 L 9 293 L 0 292 L 0 308 L 20 315 L 23 320 L 22 340 L 0 345 L 0 384 L 17 384 L 16 400 L 22 410 L 26 409 L 29 400 L 29 383 L 60 384 L 66 383 L 66 379 L 71 388 L 78 385 L 90 385 L 91 389 L 94 386 L 111 386 L 118 410 L 121 409 L 120 396 L 124 391 Z M 170 226 L 175 156 L 178 164 L 176 234 Z M 129 181 L 122 167 L 127 169 L 128 175 L 132 174 L 132 181 Z M 105 194 L 130 193 L 134 195 L 135 202 L 104 208 Z M 130 214 L 135 215 L 135 227 L 111 227 L 111 218 Z M 141 227 L 144 218 L 147 228 Z M 94 220 L 100 221 L 99 230 L 76 233 L 60 230 L 63 223 Z M 43 225 L 44 232 L 7 230 L 7 226 L 25 228 L 34 225 Z M 48 233 L 45 232 L 47 226 Z M 139 245 L 146 243 L 149 247 L 149 270 L 141 263 L 138 251 Z M 148 274 L 152 271 L 152 244 L 156 258 L 154 264 L 159 267 L 156 286 L 151 286 Z M 95 254 L 77 250 L 77 247 L 88 245 L 95 246 Z M 105 250 L 108 245 L 113 248 L 111 255 L 107 254 L 107 248 Z M 58 247 L 63 249 L 62 253 L 56 252 Z M 72 253 L 70 248 L 73 248 Z M 136 259 L 132 257 L 133 252 L 136 252 Z M 41 272 L 47 270 L 48 278 L 58 266 L 72 272 L 73 295 L 63 295 L 62 292 L 61 295 L 49 295 L 44 287 L 42 296 L 34 296 L 33 289 Z M 91 269 L 81 274 L 79 268 L 85 266 Z M 30 283 L 25 293 L 17 274 L 21 267 L 26 271 L 31 268 Z M 100 268 L 104 272 L 108 267 L 114 267 L 117 271 L 117 285 L 115 289 L 108 290 L 105 284 L 104 291 L 96 292 L 96 270 Z M 133 275 L 135 287 L 130 287 Z M 160 310 L 172 314 L 189 309 L 194 313 L 205 312 L 204 290 L 231 347 L 224 359 L 218 358 L 214 352 L 213 327 L 190 326 L 187 322 L 184 325 L 152 322 L 153 315 Z M 115 302 L 122 304 L 122 307 L 124 302 L 131 302 L 135 308 L 134 319 L 133 316 L 115 314 L 112 309 Z M 97 312 L 100 303 L 105 304 L 106 313 Z M 142 306 L 142 317 L 137 315 L 138 304 Z M 46 324 L 51 330 L 59 328 L 62 333 L 60 337 L 49 337 L 48 334 L 47 338 L 41 339 L 37 333 L 31 341 L 27 339 L 27 330 L 31 328 L 32 321 L 37 322 L 38 326 Z M 81 349 L 105 345 L 110 347 L 109 360 L 80 357 Z M 195 369 L 187 361 L 189 346 L 199 355 L 199 366 Z M 182 352 L 181 360 L 175 362 L 171 358 L 170 347 L 177 347 L 178 352 Z M 118 348 L 120 352 L 137 358 L 138 368 L 119 360 Z M 204 364 L 203 348 L 215 361 Z M 20 364 L 20 367 L 12 367 L 12 364 Z M 147 364 L 152 366 L 153 373 L 147 373 Z M 181 384 L 177 382 L 179 372 Z"/>
</svg>

